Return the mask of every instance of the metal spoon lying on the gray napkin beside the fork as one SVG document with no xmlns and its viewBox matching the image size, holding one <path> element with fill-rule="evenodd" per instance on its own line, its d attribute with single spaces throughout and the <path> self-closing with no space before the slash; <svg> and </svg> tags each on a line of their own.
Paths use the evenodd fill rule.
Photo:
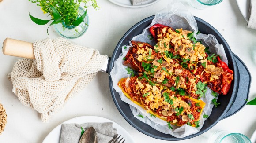
<svg viewBox="0 0 256 143">
<path fill-rule="evenodd" d="M 79 143 L 98 143 L 96 130 L 93 127 L 88 128 L 81 136 Z"/>
</svg>

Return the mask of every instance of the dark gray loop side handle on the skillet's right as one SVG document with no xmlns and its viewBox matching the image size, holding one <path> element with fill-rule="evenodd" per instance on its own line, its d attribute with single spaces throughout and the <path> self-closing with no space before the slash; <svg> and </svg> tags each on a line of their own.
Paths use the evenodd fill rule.
<svg viewBox="0 0 256 143">
<path fill-rule="evenodd" d="M 233 56 L 237 63 L 237 69 L 239 70 L 239 86 L 237 87 L 237 97 L 233 102 L 233 105 L 226 112 L 224 117 L 222 117 L 222 119 L 230 117 L 233 114 L 236 114 L 239 110 L 241 110 L 246 105 L 247 101 L 245 100 L 248 99 L 248 95 L 250 92 L 251 74 L 248 68 L 245 66 L 245 63 L 234 53 Z"/>
</svg>

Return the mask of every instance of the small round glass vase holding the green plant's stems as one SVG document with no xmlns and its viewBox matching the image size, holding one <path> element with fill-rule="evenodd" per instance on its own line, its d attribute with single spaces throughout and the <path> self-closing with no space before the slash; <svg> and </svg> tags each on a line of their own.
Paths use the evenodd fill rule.
<svg viewBox="0 0 256 143">
<path fill-rule="evenodd" d="M 85 10 L 83 7 L 78 8 L 78 17 L 83 15 Z M 79 26 L 67 26 L 65 22 L 55 24 L 55 31 L 62 37 L 74 39 L 82 36 L 88 29 L 89 26 L 89 16 L 86 14 L 86 17 L 83 19 L 83 22 Z"/>
</svg>

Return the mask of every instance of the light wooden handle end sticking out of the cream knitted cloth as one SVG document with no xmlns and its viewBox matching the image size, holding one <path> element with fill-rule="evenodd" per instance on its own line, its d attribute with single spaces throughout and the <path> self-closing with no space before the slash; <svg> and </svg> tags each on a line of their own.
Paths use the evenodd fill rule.
<svg viewBox="0 0 256 143">
<path fill-rule="evenodd" d="M 4 55 L 35 59 L 33 43 L 6 38 L 3 43 Z"/>
</svg>

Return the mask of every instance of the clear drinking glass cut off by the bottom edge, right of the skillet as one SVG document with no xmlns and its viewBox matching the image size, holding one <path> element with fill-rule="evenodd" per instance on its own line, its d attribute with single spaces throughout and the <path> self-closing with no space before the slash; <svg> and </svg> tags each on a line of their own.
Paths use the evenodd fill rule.
<svg viewBox="0 0 256 143">
<path fill-rule="evenodd" d="M 228 131 L 217 131 L 209 138 L 209 143 L 252 143 L 247 136 L 240 133 L 230 133 Z"/>
</svg>

